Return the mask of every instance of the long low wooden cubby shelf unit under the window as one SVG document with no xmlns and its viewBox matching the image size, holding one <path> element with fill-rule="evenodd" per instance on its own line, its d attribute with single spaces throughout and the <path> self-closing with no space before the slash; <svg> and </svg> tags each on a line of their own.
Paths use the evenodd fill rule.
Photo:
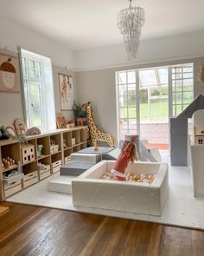
<svg viewBox="0 0 204 256">
<path fill-rule="evenodd" d="M 18 140 L 0 141 L 0 200 L 59 172 L 61 165 L 70 160 L 70 154 L 87 147 L 86 134 L 87 127 L 81 126 L 28 136 L 29 144 L 24 146 Z M 51 149 L 54 145 L 57 147 Z M 5 168 L 3 159 L 8 157 L 15 161 L 15 165 Z M 5 184 L 3 174 L 17 170 L 18 163 L 22 166 L 23 178 L 19 175 L 19 180 L 16 176 L 15 182 Z"/>
</svg>

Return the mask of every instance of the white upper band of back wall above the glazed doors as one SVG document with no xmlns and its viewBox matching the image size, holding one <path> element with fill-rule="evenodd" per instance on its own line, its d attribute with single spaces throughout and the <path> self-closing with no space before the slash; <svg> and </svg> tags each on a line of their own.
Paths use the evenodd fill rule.
<svg viewBox="0 0 204 256">
<path fill-rule="evenodd" d="M 137 58 L 132 61 L 127 60 L 124 44 L 77 51 L 75 53 L 75 67 L 77 71 L 83 71 L 204 56 L 203 43 L 204 31 L 142 41 L 137 52 Z"/>
</svg>

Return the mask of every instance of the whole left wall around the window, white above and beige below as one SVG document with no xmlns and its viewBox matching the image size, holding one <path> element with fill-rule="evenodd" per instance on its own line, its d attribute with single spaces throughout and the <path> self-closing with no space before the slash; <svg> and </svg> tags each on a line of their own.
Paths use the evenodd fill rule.
<svg viewBox="0 0 204 256">
<path fill-rule="evenodd" d="M 7 46 L 9 49 L 17 50 L 18 46 L 29 49 L 42 56 L 51 58 L 54 75 L 54 97 L 56 112 L 61 111 L 60 91 L 58 81 L 58 71 L 68 75 L 75 76 L 74 55 L 73 52 L 61 45 L 48 40 L 43 36 L 36 34 L 34 31 L 28 30 L 16 23 L 12 23 L 6 19 L 0 18 L 0 52 L 4 51 L 1 46 Z M 63 67 L 63 68 L 61 68 Z M 67 69 L 64 69 L 67 67 Z M 70 70 L 71 69 L 71 70 Z M 76 95 L 76 93 L 75 93 Z M 64 111 L 64 115 L 72 118 L 72 111 Z M 22 94 L 21 93 L 0 93 L 0 126 L 11 125 L 16 118 L 23 119 L 22 111 Z"/>
</svg>

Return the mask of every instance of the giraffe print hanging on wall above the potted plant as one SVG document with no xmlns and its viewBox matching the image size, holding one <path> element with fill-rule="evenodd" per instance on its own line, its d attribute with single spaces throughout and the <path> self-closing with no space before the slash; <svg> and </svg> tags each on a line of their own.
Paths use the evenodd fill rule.
<svg viewBox="0 0 204 256">
<path fill-rule="evenodd" d="M 73 76 L 59 73 L 61 89 L 61 110 L 73 108 Z"/>
</svg>

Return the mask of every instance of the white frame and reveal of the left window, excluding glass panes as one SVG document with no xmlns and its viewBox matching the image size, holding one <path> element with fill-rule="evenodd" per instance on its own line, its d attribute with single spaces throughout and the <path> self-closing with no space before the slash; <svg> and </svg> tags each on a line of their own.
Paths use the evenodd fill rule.
<svg viewBox="0 0 204 256">
<path fill-rule="evenodd" d="M 23 113 L 24 119 L 27 123 L 28 128 L 36 126 L 33 118 L 33 104 L 32 95 L 30 91 L 30 84 L 32 82 L 39 83 L 40 89 L 40 104 L 41 104 L 41 125 L 36 126 L 45 132 L 56 128 L 55 120 L 55 106 L 54 106 L 54 85 L 53 85 L 53 74 L 51 60 L 46 56 L 41 56 L 30 52 L 26 49 L 20 49 L 20 62 L 22 67 L 22 58 L 26 59 L 26 72 L 22 72 L 22 95 L 23 95 Z M 29 60 L 39 62 L 41 69 L 39 71 L 40 77 L 29 76 Z M 35 73 L 35 67 L 34 67 Z M 27 83 L 27 90 L 25 89 L 25 83 Z M 26 95 L 27 99 L 26 101 Z"/>
</svg>

